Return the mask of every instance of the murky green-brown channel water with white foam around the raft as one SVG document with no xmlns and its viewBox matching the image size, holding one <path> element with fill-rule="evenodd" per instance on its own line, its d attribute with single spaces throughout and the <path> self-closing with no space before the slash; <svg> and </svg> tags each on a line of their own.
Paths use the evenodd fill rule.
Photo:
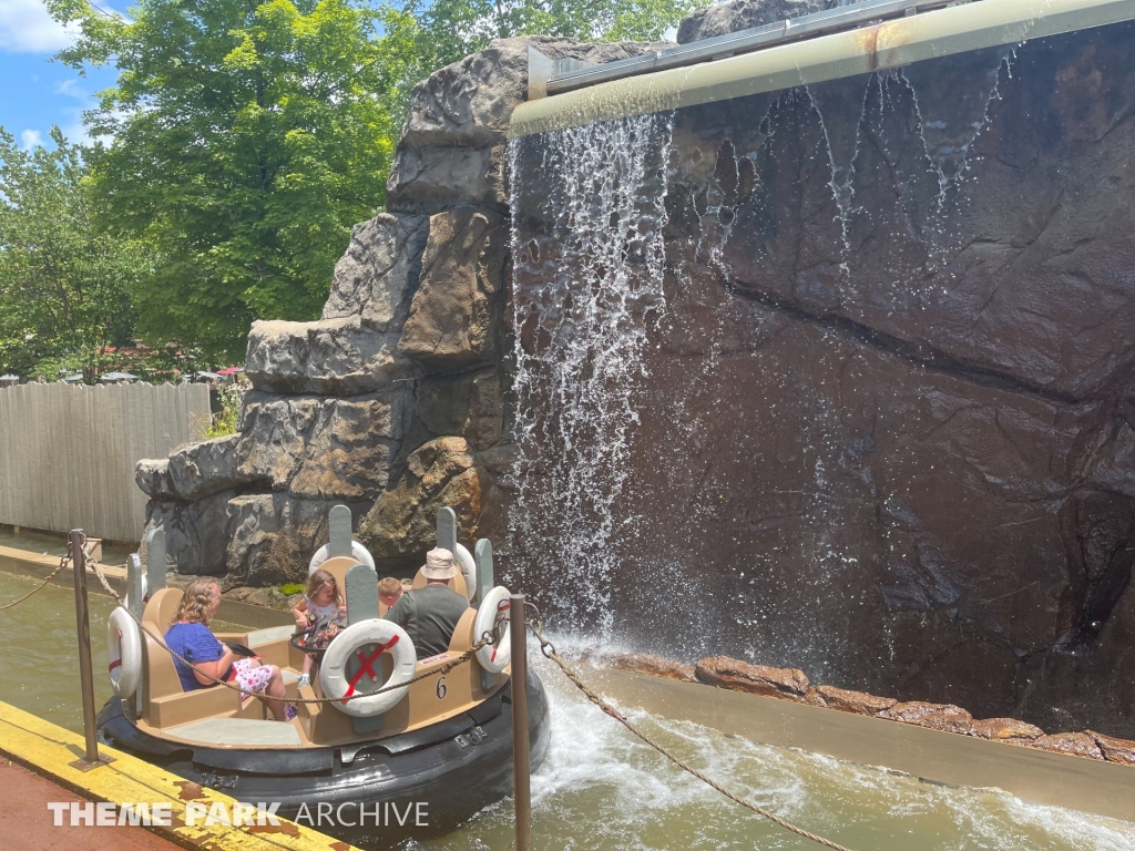
<svg viewBox="0 0 1135 851">
<path fill-rule="evenodd" d="M 35 581 L 0 573 L 0 605 Z M 0 613 L 0 699 L 82 730 L 74 597 L 47 588 Z M 91 596 L 98 701 L 106 676 L 109 598 Z M 18 614 L 17 614 L 18 613 Z M 814 851 L 818 846 L 741 810 L 640 744 L 582 700 L 540 657 L 552 706 L 552 747 L 532 777 L 538 851 Z M 693 724 L 629 713 L 699 769 L 743 797 L 855 851 L 1127 851 L 1135 825 L 950 789 L 798 751 L 725 736 Z M 460 790 L 455 790 L 460 794 Z M 506 851 L 512 803 L 484 810 L 457 832 L 407 851 Z"/>
</svg>

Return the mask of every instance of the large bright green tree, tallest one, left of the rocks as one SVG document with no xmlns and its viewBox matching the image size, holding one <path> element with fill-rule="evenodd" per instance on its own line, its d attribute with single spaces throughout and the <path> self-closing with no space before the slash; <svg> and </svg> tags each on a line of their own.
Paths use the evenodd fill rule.
<svg viewBox="0 0 1135 851">
<path fill-rule="evenodd" d="M 375 12 L 347 0 L 140 0 L 131 19 L 48 0 L 114 62 L 87 113 L 106 226 L 162 263 L 140 328 L 243 360 L 252 319 L 318 317 L 351 227 L 381 205 L 396 137 Z"/>
</svg>

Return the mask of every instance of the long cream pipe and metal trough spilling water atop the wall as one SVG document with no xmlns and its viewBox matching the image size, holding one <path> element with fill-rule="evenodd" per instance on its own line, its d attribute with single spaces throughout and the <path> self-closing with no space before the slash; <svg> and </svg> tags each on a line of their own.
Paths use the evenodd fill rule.
<svg viewBox="0 0 1135 851">
<path fill-rule="evenodd" d="M 942 3 L 868 0 L 594 66 L 557 67 L 529 49 L 529 100 L 513 112 L 508 135 L 664 112 L 1135 19 L 1135 0 L 974 0 L 933 8 Z"/>
</svg>

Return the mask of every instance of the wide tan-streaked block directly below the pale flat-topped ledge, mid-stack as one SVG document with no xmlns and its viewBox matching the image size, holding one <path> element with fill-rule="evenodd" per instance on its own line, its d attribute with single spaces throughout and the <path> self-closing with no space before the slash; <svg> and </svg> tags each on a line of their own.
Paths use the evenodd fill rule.
<svg viewBox="0 0 1135 851">
<path fill-rule="evenodd" d="M 245 399 L 241 473 L 301 499 L 373 500 L 402 446 L 407 389 L 351 398 L 272 396 Z"/>
</svg>

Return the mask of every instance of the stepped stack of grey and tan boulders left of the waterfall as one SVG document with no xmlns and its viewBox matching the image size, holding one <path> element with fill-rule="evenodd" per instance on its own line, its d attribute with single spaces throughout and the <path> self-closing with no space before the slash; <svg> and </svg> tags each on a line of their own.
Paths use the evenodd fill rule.
<svg viewBox="0 0 1135 851">
<path fill-rule="evenodd" d="M 494 42 L 413 92 L 386 211 L 355 226 L 316 322 L 255 322 L 236 435 L 143 461 L 148 529 L 171 567 L 230 584 L 300 581 L 346 503 L 380 570 L 417 568 L 438 507 L 504 530 L 510 268 L 505 133 L 528 56 L 614 61 L 650 44 Z"/>
</svg>

